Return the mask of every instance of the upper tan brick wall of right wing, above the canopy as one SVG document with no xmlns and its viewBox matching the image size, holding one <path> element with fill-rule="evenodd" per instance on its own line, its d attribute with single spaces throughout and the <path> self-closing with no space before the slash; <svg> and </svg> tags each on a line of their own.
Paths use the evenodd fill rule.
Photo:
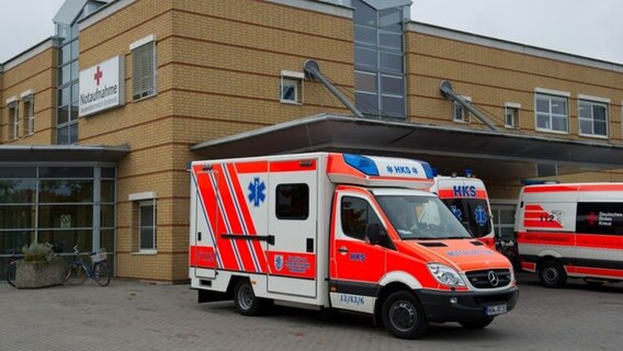
<svg viewBox="0 0 623 351">
<path fill-rule="evenodd" d="M 623 73 L 547 58 L 457 42 L 427 34 L 407 35 L 409 118 L 457 125 L 452 122 L 452 103 L 439 91 L 442 80 L 472 98 L 496 125 L 503 127 L 506 102 L 521 104 L 520 131 L 563 139 L 594 140 L 578 135 L 578 95 L 610 99 L 610 140 L 623 144 Z M 569 134 L 535 132 L 534 90 L 565 91 L 569 98 Z M 471 126 L 485 126 L 472 117 Z"/>
</svg>

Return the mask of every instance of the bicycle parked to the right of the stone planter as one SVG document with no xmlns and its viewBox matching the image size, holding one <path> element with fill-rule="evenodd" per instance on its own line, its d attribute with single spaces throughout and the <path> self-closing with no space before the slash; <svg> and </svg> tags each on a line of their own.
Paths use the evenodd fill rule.
<svg viewBox="0 0 623 351">
<path fill-rule="evenodd" d="M 101 257 L 98 252 L 91 252 L 89 256 L 95 257 L 92 260 L 92 265 L 89 267 L 82 260 L 82 254 L 78 251 L 78 246 L 73 247 L 73 260 L 67 267 L 67 275 L 65 281 L 70 285 L 78 285 L 84 283 L 87 279 L 92 279 L 101 286 L 106 286 L 111 282 L 111 271 L 106 265 L 105 257 Z"/>
</svg>

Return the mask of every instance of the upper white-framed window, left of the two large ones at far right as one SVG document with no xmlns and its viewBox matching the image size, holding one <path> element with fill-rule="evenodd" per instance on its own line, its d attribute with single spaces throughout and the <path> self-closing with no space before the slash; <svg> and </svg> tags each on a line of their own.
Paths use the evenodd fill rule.
<svg viewBox="0 0 623 351">
<path fill-rule="evenodd" d="M 536 131 L 568 133 L 568 98 L 536 93 Z"/>
</svg>

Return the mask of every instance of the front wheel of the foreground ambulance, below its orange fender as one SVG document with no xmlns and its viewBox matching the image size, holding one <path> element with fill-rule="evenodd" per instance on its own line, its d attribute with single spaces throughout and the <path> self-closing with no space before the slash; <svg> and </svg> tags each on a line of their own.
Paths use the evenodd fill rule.
<svg viewBox="0 0 623 351">
<path fill-rule="evenodd" d="M 407 291 L 395 292 L 385 299 L 381 318 L 385 329 L 396 338 L 418 339 L 428 330 L 424 309 L 417 297 Z"/>
</svg>

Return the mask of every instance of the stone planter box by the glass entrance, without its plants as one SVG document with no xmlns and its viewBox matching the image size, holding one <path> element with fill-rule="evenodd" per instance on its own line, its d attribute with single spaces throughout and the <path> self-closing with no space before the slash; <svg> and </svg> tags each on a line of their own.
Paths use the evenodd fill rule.
<svg viewBox="0 0 623 351">
<path fill-rule="evenodd" d="M 65 282 L 66 263 L 64 260 L 52 262 L 18 261 L 15 285 L 18 288 L 37 288 L 59 285 Z"/>
</svg>

